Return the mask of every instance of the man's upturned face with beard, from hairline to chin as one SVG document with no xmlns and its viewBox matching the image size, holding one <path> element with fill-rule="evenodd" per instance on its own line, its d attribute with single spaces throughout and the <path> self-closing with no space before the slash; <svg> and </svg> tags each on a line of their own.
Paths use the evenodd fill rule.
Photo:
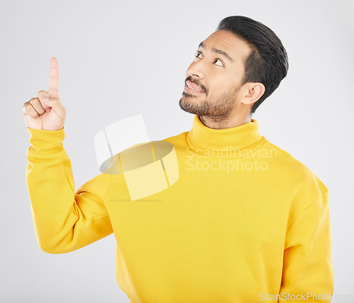
<svg viewBox="0 0 354 303">
<path fill-rule="evenodd" d="M 241 103 L 238 91 L 250 52 L 246 42 L 225 30 L 202 41 L 185 74 L 181 108 L 210 118 L 234 115 Z"/>
</svg>

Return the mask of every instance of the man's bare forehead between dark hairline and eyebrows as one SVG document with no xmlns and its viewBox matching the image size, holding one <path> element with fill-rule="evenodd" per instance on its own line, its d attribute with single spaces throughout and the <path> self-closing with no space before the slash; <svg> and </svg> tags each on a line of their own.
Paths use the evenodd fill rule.
<svg viewBox="0 0 354 303">
<path fill-rule="evenodd" d="M 251 52 L 251 47 L 244 40 L 227 30 L 217 30 L 202 41 L 202 45 L 205 50 L 218 49 L 227 52 L 234 61 L 244 62 Z"/>
</svg>

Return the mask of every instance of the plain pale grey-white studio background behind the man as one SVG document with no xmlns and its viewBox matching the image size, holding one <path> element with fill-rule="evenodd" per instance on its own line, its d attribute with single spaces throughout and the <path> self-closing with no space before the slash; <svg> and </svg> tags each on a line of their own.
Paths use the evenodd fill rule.
<svg viewBox="0 0 354 303">
<path fill-rule="evenodd" d="M 190 130 L 178 105 L 185 70 L 232 15 L 268 25 L 287 49 L 289 74 L 253 118 L 329 188 L 335 294 L 354 294 L 354 1 L 1 0 L 1 302 L 129 302 L 113 235 L 63 255 L 35 239 L 22 105 L 47 91 L 50 57 L 78 188 L 100 173 L 93 137 L 106 125 L 141 113 L 151 140 Z"/>
</svg>

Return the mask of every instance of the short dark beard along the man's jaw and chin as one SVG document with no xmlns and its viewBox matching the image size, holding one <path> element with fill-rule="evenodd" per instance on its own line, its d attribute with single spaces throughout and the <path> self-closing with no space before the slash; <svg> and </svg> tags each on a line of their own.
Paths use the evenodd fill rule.
<svg viewBox="0 0 354 303">
<path fill-rule="evenodd" d="M 182 98 L 179 101 L 180 107 L 187 113 L 193 113 L 198 116 L 207 116 L 208 118 L 216 121 L 228 118 L 234 108 L 237 93 L 239 88 L 232 93 L 224 93 L 217 98 L 210 99 L 205 93 L 203 96 L 194 96 L 183 91 Z"/>
</svg>

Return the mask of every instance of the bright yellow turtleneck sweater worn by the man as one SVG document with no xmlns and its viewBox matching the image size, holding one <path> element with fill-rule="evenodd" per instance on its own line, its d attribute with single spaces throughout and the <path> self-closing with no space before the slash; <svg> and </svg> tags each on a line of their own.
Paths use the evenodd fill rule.
<svg viewBox="0 0 354 303">
<path fill-rule="evenodd" d="M 328 189 L 262 137 L 256 120 L 212 130 L 196 115 L 190 132 L 164 140 L 176 151 L 178 180 L 134 201 L 123 174 L 101 173 L 74 192 L 64 130 L 28 130 L 40 247 L 67 253 L 114 232 L 118 285 L 130 302 L 332 295 Z"/>
</svg>

